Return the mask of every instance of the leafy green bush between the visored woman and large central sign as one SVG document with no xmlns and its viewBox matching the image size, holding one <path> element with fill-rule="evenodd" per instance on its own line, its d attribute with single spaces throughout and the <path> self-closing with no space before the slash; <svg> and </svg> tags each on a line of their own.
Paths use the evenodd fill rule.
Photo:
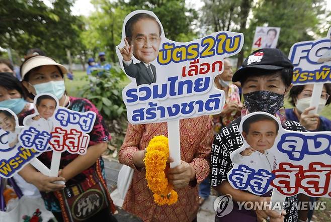
<svg viewBox="0 0 331 222">
<path fill-rule="evenodd" d="M 90 84 L 80 87 L 79 96 L 89 99 L 97 106 L 105 119 L 114 120 L 126 116 L 122 100 L 121 81 L 125 74 L 118 66 L 110 70 L 94 70 L 91 75 L 84 77 Z"/>
</svg>

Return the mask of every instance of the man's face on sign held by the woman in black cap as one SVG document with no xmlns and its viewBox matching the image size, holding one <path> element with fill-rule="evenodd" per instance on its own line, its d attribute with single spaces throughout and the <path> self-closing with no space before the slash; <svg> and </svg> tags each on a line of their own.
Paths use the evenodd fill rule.
<svg viewBox="0 0 331 222">
<path fill-rule="evenodd" d="M 249 132 L 242 132 L 243 138 L 251 148 L 264 153 L 272 148 L 278 135 L 275 121 L 262 120 L 250 124 Z"/>
</svg>

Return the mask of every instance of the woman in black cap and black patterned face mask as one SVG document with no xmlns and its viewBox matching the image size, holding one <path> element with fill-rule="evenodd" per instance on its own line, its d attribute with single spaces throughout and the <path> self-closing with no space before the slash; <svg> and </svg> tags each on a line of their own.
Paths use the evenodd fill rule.
<svg viewBox="0 0 331 222">
<path fill-rule="evenodd" d="M 283 107 L 284 95 L 288 92 L 293 74 L 293 65 L 279 49 L 260 49 L 253 52 L 244 61 L 242 68 L 236 71 L 232 81 L 240 81 L 246 112 L 267 112 L 278 116 L 287 130 L 304 131 L 297 123 L 285 120 L 285 112 L 279 112 Z M 279 115 L 281 113 L 281 115 Z M 227 173 L 233 167 L 230 154 L 243 145 L 239 132 L 241 118 L 234 120 L 215 137 L 211 157 L 211 186 L 222 195 L 230 194 L 234 207 L 231 213 L 218 217 L 215 221 L 297 221 L 298 210 L 292 207 L 297 196 L 286 198 L 290 203 L 281 215 L 274 210 L 238 209 L 236 201 L 269 202 L 271 192 L 264 196 L 237 190 L 227 181 Z"/>
</svg>

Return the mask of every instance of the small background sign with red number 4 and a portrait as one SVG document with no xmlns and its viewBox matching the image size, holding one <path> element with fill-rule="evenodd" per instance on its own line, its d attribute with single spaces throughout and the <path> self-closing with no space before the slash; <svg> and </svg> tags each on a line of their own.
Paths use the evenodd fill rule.
<svg viewBox="0 0 331 222">
<path fill-rule="evenodd" d="M 264 48 L 276 48 L 279 33 L 279 27 L 256 27 L 252 51 Z"/>
</svg>

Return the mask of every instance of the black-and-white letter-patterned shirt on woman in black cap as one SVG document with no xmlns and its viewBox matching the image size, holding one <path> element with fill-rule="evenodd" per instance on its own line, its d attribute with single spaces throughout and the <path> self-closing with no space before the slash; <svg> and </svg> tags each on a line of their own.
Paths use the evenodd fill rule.
<svg viewBox="0 0 331 222">
<path fill-rule="evenodd" d="M 241 118 L 232 121 L 230 125 L 223 128 L 214 139 L 211 152 L 211 186 L 218 186 L 223 181 L 227 180 L 227 173 L 233 167 L 230 154 L 243 145 L 243 138 L 239 132 L 240 121 Z M 285 123 L 285 129 L 301 132 L 306 131 L 299 123 L 288 120 Z M 290 205 L 285 208 L 287 214 L 284 221 L 297 221 L 298 211 L 295 207 L 292 207 L 297 200 L 296 195 L 286 197 L 286 201 L 288 201 Z M 254 216 L 255 213 L 253 212 L 252 215 Z"/>
</svg>

